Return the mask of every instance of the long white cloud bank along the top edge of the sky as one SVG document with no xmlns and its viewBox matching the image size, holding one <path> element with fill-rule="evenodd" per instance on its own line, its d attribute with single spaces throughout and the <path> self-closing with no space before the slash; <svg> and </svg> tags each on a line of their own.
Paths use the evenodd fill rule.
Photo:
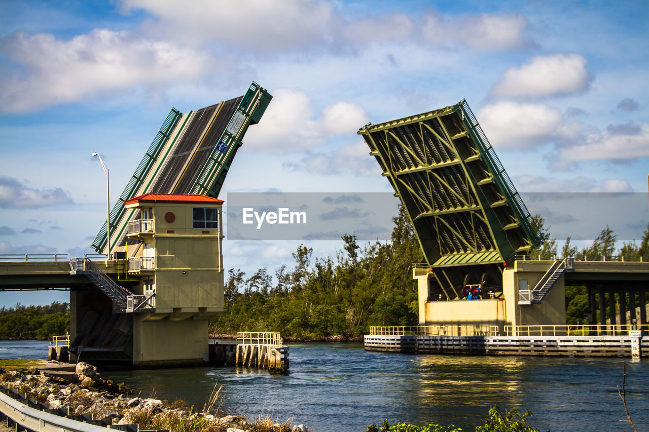
<svg viewBox="0 0 649 432">
<path fill-rule="evenodd" d="M 121 0 L 123 13 L 145 10 L 154 16 L 145 31 L 173 34 L 186 43 L 219 42 L 257 53 L 309 49 L 349 49 L 375 43 L 412 41 L 427 45 L 462 45 L 471 49 L 519 49 L 533 46 L 520 14 L 465 14 L 443 21 L 437 14 L 421 19 L 391 10 L 376 16 L 347 18 L 353 7 L 325 0 Z"/>
</svg>

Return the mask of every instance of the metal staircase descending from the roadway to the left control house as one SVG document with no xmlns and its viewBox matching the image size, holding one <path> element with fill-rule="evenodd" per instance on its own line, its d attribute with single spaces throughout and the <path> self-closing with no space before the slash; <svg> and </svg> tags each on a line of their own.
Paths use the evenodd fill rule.
<svg viewBox="0 0 649 432">
<path fill-rule="evenodd" d="M 94 283 L 113 303 L 113 313 L 152 312 L 155 311 L 150 296 L 131 293 L 125 287 L 118 285 L 108 274 L 104 273 L 90 258 L 71 258 L 70 274 L 84 274 Z"/>
</svg>

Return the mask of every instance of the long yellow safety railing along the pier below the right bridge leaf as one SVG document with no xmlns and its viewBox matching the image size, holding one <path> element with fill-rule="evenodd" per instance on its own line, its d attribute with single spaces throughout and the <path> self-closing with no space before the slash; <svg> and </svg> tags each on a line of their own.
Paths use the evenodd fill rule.
<svg viewBox="0 0 649 432">
<path fill-rule="evenodd" d="M 626 336 L 631 330 L 649 332 L 649 324 L 578 324 L 572 326 L 439 326 L 370 327 L 372 336 Z"/>
</svg>

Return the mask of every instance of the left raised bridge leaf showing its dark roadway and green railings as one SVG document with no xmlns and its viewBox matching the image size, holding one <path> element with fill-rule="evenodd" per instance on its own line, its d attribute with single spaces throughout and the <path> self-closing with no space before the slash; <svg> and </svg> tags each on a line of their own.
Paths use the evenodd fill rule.
<svg viewBox="0 0 649 432">
<path fill-rule="evenodd" d="M 217 197 L 249 125 L 258 123 L 273 97 L 253 82 L 245 95 L 195 112 L 169 112 L 129 184 L 110 213 L 112 248 L 126 245 L 126 225 L 137 215 L 124 202 L 144 193 Z M 106 253 L 106 221 L 92 243 Z"/>
</svg>

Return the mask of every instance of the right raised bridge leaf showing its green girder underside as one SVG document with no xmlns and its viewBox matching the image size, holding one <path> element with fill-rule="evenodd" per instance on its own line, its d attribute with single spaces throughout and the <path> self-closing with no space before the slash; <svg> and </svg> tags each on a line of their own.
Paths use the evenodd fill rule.
<svg viewBox="0 0 649 432">
<path fill-rule="evenodd" d="M 466 101 L 358 134 L 408 211 L 429 265 L 509 263 L 539 243 Z"/>
</svg>

